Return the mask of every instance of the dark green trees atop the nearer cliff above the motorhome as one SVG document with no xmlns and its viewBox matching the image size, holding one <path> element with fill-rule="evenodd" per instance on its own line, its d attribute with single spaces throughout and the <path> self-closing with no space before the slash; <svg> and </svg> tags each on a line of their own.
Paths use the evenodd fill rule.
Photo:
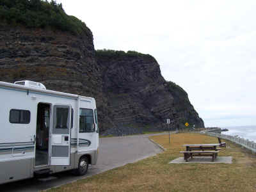
<svg viewBox="0 0 256 192">
<path fill-rule="evenodd" d="M 0 21 L 12 25 L 23 25 L 28 28 L 55 28 L 69 31 L 74 35 L 88 32 L 84 22 L 69 16 L 62 4 L 52 0 L 1 0 Z"/>
</svg>

